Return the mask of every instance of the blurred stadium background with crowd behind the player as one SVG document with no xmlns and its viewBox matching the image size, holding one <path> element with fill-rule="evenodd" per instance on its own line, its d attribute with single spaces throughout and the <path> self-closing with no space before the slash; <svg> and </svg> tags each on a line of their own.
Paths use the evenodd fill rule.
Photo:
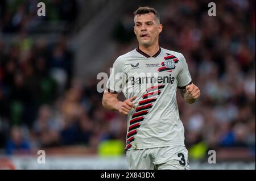
<svg viewBox="0 0 256 181">
<path fill-rule="evenodd" d="M 0 169 L 126 169 L 126 117 L 102 107 L 96 77 L 138 46 L 144 5 L 201 90 L 191 105 L 177 92 L 192 169 L 255 169 L 255 1 L 214 1 L 217 16 L 204 0 L 40 1 L 46 16 L 38 2 L 0 2 Z"/>
</svg>

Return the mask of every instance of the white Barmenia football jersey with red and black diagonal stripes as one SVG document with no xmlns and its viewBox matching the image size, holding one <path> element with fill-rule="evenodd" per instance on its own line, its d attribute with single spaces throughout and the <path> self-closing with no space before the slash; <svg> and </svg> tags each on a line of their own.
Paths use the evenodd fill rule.
<svg viewBox="0 0 256 181">
<path fill-rule="evenodd" d="M 159 48 L 150 57 L 139 48 L 119 56 L 108 79 L 109 92 L 137 96 L 127 116 L 127 149 L 184 145 L 176 90 L 191 83 L 184 56 Z"/>
</svg>

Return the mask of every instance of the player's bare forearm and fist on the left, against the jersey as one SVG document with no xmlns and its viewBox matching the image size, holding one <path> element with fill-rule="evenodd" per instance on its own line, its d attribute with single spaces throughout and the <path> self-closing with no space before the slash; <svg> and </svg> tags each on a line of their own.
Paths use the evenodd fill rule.
<svg viewBox="0 0 256 181">
<path fill-rule="evenodd" d="M 136 99 L 136 96 L 133 98 L 126 99 L 124 102 L 117 99 L 118 94 L 110 93 L 104 91 L 102 98 L 102 106 L 108 110 L 118 111 L 123 115 L 128 115 L 132 108 L 135 108 L 133 100 Z"/>
</svg>

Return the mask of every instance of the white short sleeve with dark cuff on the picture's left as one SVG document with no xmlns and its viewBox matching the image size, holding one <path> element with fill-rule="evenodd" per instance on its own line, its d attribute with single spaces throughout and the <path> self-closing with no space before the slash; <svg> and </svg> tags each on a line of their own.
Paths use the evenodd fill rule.
<svg viewBox="0 0 256 181">
<path fill-rule="evenodd" d="M 125 59 L 118 57 L 113 64 L 106 88 L 109 92 L 119 93 L 125 85 L 125 72 L 124 72 Z"/>
</svg>

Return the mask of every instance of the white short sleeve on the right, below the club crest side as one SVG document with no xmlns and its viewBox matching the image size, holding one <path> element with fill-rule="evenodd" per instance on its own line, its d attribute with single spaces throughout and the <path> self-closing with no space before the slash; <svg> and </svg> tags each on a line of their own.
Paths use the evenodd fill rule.
<svg viewBox="0 0 256 181">
<path fill-rule="evenodd" d="M 185 86 L 192 83 L 192 78 L 188 70 L 188 64 L 185 60 L 183 54 L 179 53 L 180 55 L 180 71 L 177 75 L 177 88 L 185 89 Z"/>
</svg>

